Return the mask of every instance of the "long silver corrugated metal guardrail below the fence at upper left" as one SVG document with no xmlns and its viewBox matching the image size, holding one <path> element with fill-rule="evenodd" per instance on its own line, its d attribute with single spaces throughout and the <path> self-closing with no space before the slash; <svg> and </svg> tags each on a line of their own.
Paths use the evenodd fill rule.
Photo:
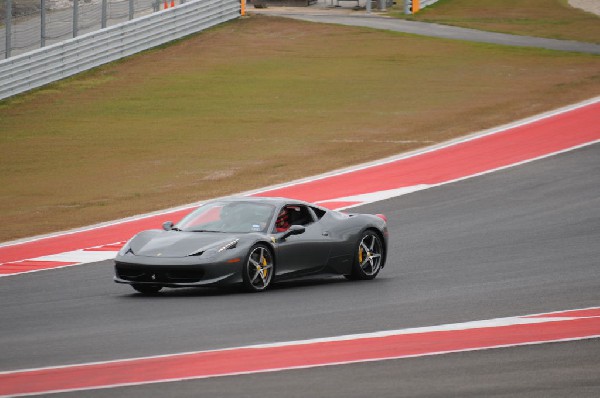
<svg viewBox="0 0 600 398">
<path fill-rule="evenodd" d="M 0 100 L 239 16 L 239 0 L 188 0 L 174 8 L 0 61 Z"/>
</svg>

